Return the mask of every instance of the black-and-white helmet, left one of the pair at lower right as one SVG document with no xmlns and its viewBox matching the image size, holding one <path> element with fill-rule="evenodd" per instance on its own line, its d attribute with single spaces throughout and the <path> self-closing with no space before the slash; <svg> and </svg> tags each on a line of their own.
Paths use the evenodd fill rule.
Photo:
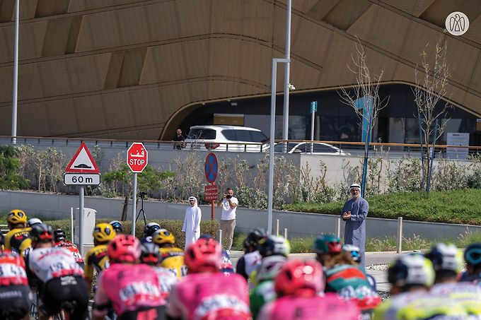
<svg viewBox="0 0 481 320">
<path fill-rule="evenodd" d="M 389 266 L 388 282 L 400 288 L 408 285 L 429 288 L 434 283 L 433 265 L 422 254 L 405 254 Z"/>
</svg>

